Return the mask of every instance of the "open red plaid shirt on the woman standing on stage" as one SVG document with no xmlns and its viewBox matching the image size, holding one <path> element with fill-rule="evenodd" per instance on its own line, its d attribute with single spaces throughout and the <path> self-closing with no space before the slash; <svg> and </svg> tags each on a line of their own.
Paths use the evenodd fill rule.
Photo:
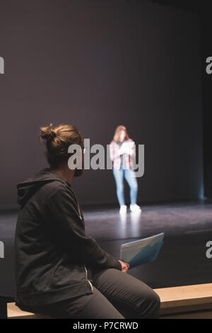
<svg viewBox="0 0 212 333">
<path fill-rule="evenodd" d="M 124 142 L 132 142 L 133 140 L 128 139 L 125 140 Z M 110 142 L 110 159 L 112 159 L 113 162 L 113 168 L 114 169 L 120 169 L 121 166 L 121 157 L 119 155 L 119 145 L 117 142 Z M 132 169 L 133 168 L 133 160 L 131 157 L 134 157 L 136 154 L 135 152 L 135 147 L 133 148 L 133 153 L 131 155 L 129 154 L 124 154 L 123 156 L 123 164 L 125 166 L 125 169 Z"/>
</svg>

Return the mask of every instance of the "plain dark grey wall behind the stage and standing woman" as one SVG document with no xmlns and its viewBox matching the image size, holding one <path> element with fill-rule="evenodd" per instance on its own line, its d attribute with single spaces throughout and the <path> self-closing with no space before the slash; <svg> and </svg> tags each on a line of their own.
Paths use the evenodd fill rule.
<svg viewBox="0 0 212 333">
<path fill-rule="evenodd" d="M 123 124 L 145 145 L 139 202 L 197 198 L 202 184 L 196 14 L 131 0 L 1 0 L 1 208 L 46 166 L 40 125 L 106 145 Z M 81 203 L 117 202 L 112 171 L 73 181 Z"/>
</svg>

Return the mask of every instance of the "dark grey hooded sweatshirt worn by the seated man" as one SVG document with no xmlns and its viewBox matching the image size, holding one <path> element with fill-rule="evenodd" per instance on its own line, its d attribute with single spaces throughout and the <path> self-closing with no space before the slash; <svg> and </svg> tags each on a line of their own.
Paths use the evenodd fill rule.
<svg viewBox="0 0 212 333">
<path fill-rule="evenodd" d="M 44 169 L 17 188 L 16 305 L 36 309 L 93 293 L 88 272 L 122 270 L 117 259 L 85 235 L 80 205 L 57 172 Z"/>
</svg>

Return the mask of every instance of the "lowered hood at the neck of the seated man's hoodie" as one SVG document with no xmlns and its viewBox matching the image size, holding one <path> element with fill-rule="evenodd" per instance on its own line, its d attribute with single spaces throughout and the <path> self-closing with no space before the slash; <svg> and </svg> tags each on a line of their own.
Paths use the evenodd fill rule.
<svg viewBox="0 0 212 333">
<path fill-rule="evenodd" d="M 61 181 L 64 184 L 67 184 L 64 179 L 57 174 L 56 171 L 46 168 L 39 171 L 35 176 L 29 178 L 22 183 L 17 184 L 18 191 L 18 203 L 23 207 L 25 203 L 37 192 L 42 186 L 52 181 Z M 70 184 L 69 184 L 70 185 Z"/>
</svg>

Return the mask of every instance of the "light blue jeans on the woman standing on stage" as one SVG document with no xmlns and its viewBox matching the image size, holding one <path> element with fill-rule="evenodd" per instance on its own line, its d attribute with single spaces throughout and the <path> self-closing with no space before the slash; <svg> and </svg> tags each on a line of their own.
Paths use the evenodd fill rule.
<svg viewBox="0 0 212 333">
<path fill-rule="evenodd" d="M 134 205 L 137 201 L 138 182 L 134 176 L 134 169 L 124 169 L 123 165 L 121 169 L 113 169 L 114 179 L 117 186 L 117 198 L 119 205 L 125 205 L 124 200 L 124 178 L 126 179 L 130 188 L 130 201 L 131 205 Z"/>
</svg>

